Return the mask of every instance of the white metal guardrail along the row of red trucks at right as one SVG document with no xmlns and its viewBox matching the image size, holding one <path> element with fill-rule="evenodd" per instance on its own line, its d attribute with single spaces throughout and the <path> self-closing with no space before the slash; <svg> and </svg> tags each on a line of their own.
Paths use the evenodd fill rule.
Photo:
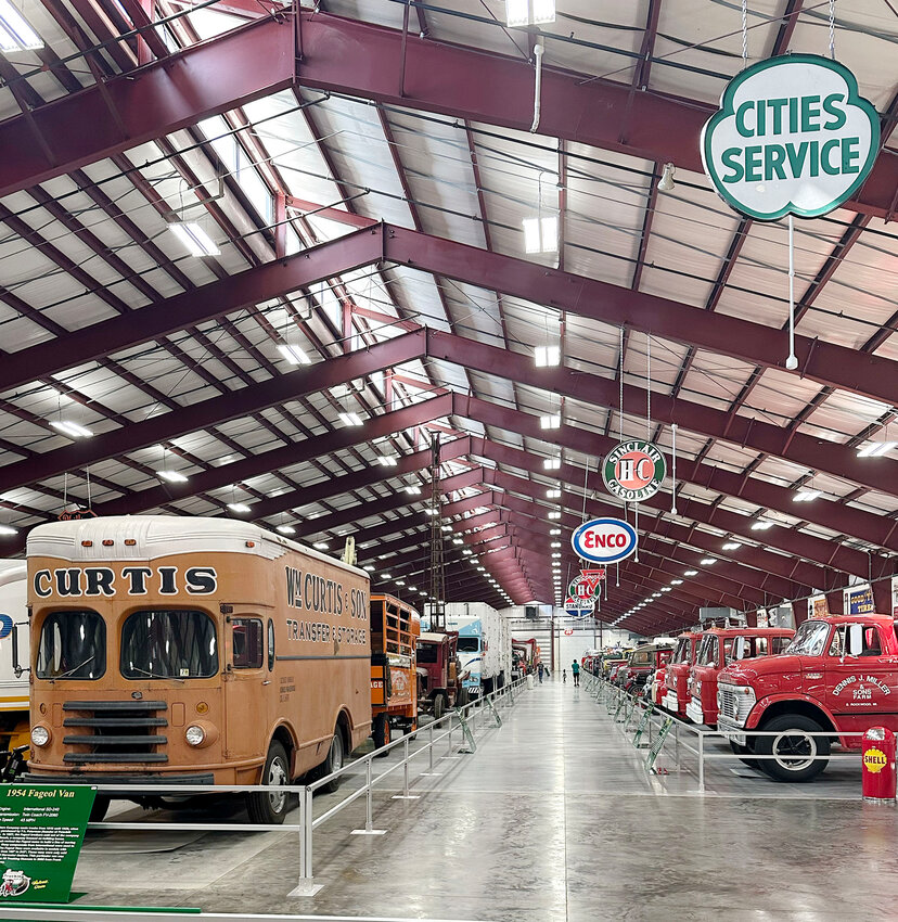
<svg viewBox="0 0 898 922">
<path fill-rule="evenodd" d="M 658 705 L 654 704 L 652 701 L 646 700 L 642 695 L 634 695 L 630 692 L 625 691 L 619 686 L 612 684 L 603 677 L 593 676 L 589 673 L 583 674 L 583 687 L 587 691 L 592 695 L 595 700 L 596 704 L 604 704 L 607 713 L 612 716 L 612 720 L 617 723 L 623 723 L 623 730 L 625 733 L 629 732 L 631 717 L 637 710 L 641 710 L 643 714 L 643 719 L 646 719 L 647 715 L 647 723 L 649 723 L 649 750 L 652 756 L 651 760 L 646 758 L 646 770 L 655 770 L 654 761 L 657 755 L 664 751 L 666 747 L 670 746 L 674 750 L 674 764 L 676 766 L 676 770 L 680 771 L 682 769 L 682 753 L 690 753 L 697 758 L 697 769 L 698 769 L 698 793 L 705 793 L 705 763 L 707 761 L 730 761 L 730 763 L 744 763 L 746 759 L 751 759 L 753 761 L 775 761 L 779 758 L 783 758 L 783 756 L 777 755 L 760 755 L 754 752 L 746 752 L 742 754 L 736 753 L 716 753 L 708 752 L 706 746 L 706 741 L 710 739 L 723 739 L 729 742 L 728 733 L 723 730 L 711 730 L 707 727 L 700 727 L 698 725 L 688 722 L 683 720 L 679 715 L 671 714 L 668 710 L 665 710 Z M 620 714 L 626 715 L 626 719 L 619 718 Z M 656 721 L 657 720 L 657 725 Z M 672 723 L 668 725 L 668 729 L 664 732 L 664 740 L 662 747 L 655 752 L 655 747 L 653 745 L 653 728 L 656 728 L 657 733 L 662 732 L 662 728 L 667 720 L 671 720 Z M 639 723 L 639 727 L 642 728 L 642 732 L 645 731 L 645 727 L 643 726 L 642 720 Z M 640 738 L 642 733 L 639 732 L 639 727 L 637 728 L 637 732 L 634 734 L 634 745 L 639 746 Z M 672 740 L 671 737 L 672 730 Z M 781 737 L 783 735 L 783 731 L 781 730 L 740 730 L 740 733 L 743 733 L 746 738 L 757 739 L 761 737 Z M 690 734 L 694 737 L 694 745 L 687 740 L 690 739 Z M 863 737 L 862 730 L 845 730 L 845 731 L 832 731 L 824 730 L 821 732 L 810 732 L 803 730 L 803 735 L 812 737 L 812 738 L 825 738 L 828 740 L 832 740 L 833 737 L 847 738 L 847 737 Z M 685 739 L 681 739 L 684 737 Z M 804 761 L 852 761 L 860 765 L 861 753 L 858 752 L 846 752 L 846 753 L 829 753 L 826 755 L 808 755 L 808 756 L 796 756 L 796 758 L 800 758 Z M 652 765 L 650 765 L 650 761 Z"/>
</svg>

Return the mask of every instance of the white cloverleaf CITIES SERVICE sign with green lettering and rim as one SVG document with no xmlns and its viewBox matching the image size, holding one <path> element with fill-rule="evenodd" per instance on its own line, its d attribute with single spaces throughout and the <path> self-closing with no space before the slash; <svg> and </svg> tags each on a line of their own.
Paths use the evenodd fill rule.
<svg viewBox="0 0 898 922">
<path fill-rule="evenodd" d="M 761 221 L 837 208 L 867 179 L 878 146 L 880 119 L 855 75 L 816 54 L 743 71 L 702 132 L 702 161 L 717 191 Z"/>
</svg>

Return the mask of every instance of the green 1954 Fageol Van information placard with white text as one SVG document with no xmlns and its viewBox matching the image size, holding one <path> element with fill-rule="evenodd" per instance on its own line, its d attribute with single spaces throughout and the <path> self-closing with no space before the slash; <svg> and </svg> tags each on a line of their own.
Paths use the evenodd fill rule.
<svg viewBox="0 0 898 922">
<path fill-rule="evenodd" d="M 97 789 L 0 785 L 0 907 L 68 902 Z"/>
</svg>

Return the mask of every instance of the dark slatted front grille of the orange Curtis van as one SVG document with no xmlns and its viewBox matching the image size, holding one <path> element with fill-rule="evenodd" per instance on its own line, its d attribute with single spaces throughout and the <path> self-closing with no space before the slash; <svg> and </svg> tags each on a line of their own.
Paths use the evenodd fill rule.
<svg viewBox="0 0 898 922">
<path fill-rule="evenodd" d="M 63 761 L 69 765 L 102 763 L 165 763 L 168 756 L 158 746 L 168 738 L 155 730 L 167 727 L 168 720 L 158 712 L 168 709 L 164 701 L 67 701 L 63 727 L 76 732 L 63 737 L 67 752 Z"/>
</svg>

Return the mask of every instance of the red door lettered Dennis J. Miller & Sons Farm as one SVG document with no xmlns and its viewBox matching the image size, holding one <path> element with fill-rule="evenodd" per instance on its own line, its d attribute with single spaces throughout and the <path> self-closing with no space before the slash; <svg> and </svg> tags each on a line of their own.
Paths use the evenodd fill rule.
<svg viewBox="0 0 898 922">
<path fill-rule="evenodd" d="M 852 631 L 854 629 L 854 631 Z M 852 646 L 854 640 L 854 646 Z M 898 730 L 898 667 L 877 625 L 837 625 L 825 656 L 826 705 L 843 730 Z M 847 741 L 860 746 L 860 739 Z"/>
</svg>

